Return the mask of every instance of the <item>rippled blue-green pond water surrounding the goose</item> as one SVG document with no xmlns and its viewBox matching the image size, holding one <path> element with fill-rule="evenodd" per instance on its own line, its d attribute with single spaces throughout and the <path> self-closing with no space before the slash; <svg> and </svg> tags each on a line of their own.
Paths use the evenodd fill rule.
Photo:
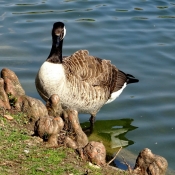
<svg viewBox="0 0 175 175">
<path fill-rule="evenodd" d="M 150 148 L 174 172 L 174 0 L 1 0 L 0 69 L 15 71 L 26 94 L 39 99 L 34 80 L 56 21 L 67 29 L 63 55 L 87 49 L 140 80 L 100 110 L 96 138 L 107 133 L 114 147 L 126 146 L 133 155 Z M 88 119 L 80 115 L 82 123 Z"/>
</svg>

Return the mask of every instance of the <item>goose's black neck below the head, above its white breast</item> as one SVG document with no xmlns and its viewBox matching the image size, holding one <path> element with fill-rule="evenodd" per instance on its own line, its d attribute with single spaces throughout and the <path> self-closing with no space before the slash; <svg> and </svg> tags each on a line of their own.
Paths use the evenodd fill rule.
<svg viewBox="0 0 175 175">
<path fill-rule="evenodd" d="M 61 64 L 62 63 L 62 47 L 63 47 L 63 39 L 60 41 L 59 37 L 53 38 L 52 48 L 47 58 L 47 61 L 51 63 Z"/>
</svg>

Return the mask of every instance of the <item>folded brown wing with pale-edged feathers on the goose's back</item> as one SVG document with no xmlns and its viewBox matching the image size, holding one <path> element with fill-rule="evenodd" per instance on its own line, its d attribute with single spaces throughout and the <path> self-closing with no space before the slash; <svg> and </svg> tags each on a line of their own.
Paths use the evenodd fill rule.
<svg viewBox="0 0 175 175">
<path fill-rule="evenodd" d="M 90 56 L 87 50 L 75 52 L 63 64 L 67 75 L 72 74 L 92 86 L 108 87 L 110 93 L 122 88 L 127 79 L 109 60 Z"/>
</svg>

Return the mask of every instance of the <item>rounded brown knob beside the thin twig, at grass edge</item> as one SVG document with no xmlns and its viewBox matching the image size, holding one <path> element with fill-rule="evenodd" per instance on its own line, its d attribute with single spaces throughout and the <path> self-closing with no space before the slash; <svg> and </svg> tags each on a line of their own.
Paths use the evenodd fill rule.
<svg viewBox="0 0 175 175">
<path fill-rule="evenodd" d="M 83 155 L 83 159 L 96 165 L 104 166 L 106 164 L 106 149 L 100 142 L 89 142 L 83 149 Z"/>
</svg>

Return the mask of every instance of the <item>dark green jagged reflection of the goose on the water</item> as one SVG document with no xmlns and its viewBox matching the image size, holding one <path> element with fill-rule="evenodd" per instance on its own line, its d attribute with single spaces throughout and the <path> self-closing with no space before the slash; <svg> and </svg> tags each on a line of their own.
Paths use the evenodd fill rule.
<svg viewBox="0 0 175 175">
<path fill-rule="evenodd" d="M 120 147 L 134 144 L 132 140 L 125 137 L 128 132 L 137 128 L 131 125 L 132 122 L 133 119 L 97 120 L 89 140 L 102 141 L 107 149 L 107 153 L 112 155 Z M 89 127 L 89 122 L 81 123 L 81 126 L 85 130 Z"/>
</svg>

